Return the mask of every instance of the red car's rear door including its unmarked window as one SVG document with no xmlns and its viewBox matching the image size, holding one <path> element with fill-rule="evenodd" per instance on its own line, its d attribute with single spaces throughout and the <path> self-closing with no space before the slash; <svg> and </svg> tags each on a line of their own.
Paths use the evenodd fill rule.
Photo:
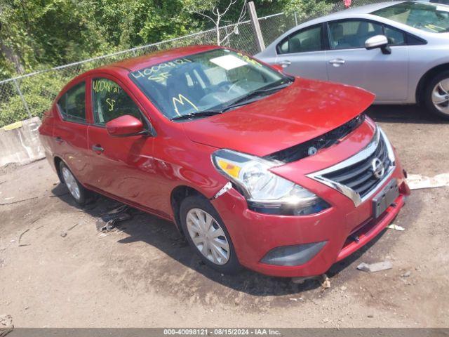
<svg viewBox="0 0 449 337">
<path fill-rule="evenodd" d="M 70 86 L 56 104 L 58 119 L 53 127 L 53 152 L 62 157 L 83 183 L 88 171 L 86 81 Z"/>
</svg>

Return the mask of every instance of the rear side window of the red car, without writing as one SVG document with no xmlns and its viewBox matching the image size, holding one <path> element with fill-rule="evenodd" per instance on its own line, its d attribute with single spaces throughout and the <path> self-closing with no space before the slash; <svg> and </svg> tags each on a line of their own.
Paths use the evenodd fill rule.
<svg viewBox="0 0 449 337">
<path fill-rule="evenodd" d="M 81 82 L 67 90 L 58 100 L 58 107 L 65 121 L 86 123 L 86 83 Z"/>
</svg>

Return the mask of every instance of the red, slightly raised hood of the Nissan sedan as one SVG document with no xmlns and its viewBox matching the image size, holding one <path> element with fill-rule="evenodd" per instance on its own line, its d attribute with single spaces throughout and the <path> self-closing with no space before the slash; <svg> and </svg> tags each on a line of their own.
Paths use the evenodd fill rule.
<svg viewBox="0 0 449 337">
<path fill-rule="evenodd" d="M 183 127 L 196 143 L 262 157 L 341 126 L 366 110 L 374 98 L 361 88 L 297 78 L 255 103 L 188 121 Z"/>
</svg>

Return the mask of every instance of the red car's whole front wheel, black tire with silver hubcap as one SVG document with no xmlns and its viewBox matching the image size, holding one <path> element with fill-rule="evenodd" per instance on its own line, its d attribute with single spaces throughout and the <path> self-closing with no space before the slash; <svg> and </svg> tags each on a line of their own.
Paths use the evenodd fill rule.
<svg viewBox="0 0 449 337">
<path fill-rule="evenodd" d="M 206 265 L 223 274 L 241 270 L 229 232 L 208 199 L 185 198 L 180 206 L 180 219 L 187 241 Z M 208 230 L 203 230 L 206 226 Z"/>
</svg>

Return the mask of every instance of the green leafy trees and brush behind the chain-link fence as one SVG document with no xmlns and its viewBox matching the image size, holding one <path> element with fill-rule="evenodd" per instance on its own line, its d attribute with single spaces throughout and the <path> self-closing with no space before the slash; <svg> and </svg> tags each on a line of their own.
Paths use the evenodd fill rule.
<svg viewBox="0 0 449 337">
<path fill-rule="evenodd" d="M 0 0 L 0 80 L 21 73 L 44 70 L 123 49 L 151 44 L 214 27 L 212 9 L 223 13 L 230 0 Z M 303 20 L 326 13 L 342 0 L 254 0 L 259 16 L 285 11 Z M 220 25 L 238 20 L 244 0 L 237 0 Z M 248 15 L 246 15 L 248 19 Z M 262 27 L 267 42 L 287 27 L 290 19 L 276 27 Z M 290 21 L 288 21 L 290 20 Z M 234 35 L 232 45 L 252 39 Z M 185 44 L 174 41 L 168 48 Z M 192 38 L 192 44 L 208 43 Z M 129 55 L 126 55 L 128 57 Z M 123 57 L 123 55 L 121 56 Z M 110 61 L 110 59 L 109 59 Z M 102 61 L 95 63 L 101 65 Z M 82 65 L 91 69 L 94 63 Z M 41 116 L 51 100 L 76 71 L 46 72 L 20 79 L 20 88 L 33 116 Z M 27 112 L 13 82 L 0 86 L 0 126 L 26 118 Z M 13 93 L 13 95 L 9 95 Z"/>
</svg>

